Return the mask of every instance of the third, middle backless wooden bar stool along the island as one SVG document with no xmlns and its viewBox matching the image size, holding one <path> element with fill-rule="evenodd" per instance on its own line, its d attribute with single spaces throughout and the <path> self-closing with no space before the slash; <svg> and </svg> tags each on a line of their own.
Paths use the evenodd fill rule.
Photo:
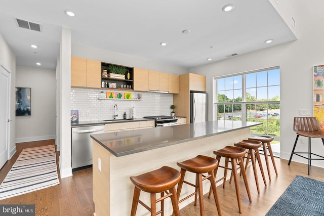
<svg viewBox="0 0 324 216">
<path fill-rule="evenodd" d="M 242 210 L 241 210 L 241 201 L 240 201 L 240 197 L 239 197 L 239 187 L 238 187 L 237 168 L 236 168 L 237 164 L 239 164 L 239 166 L 240 166 L 241 173 L 243 175 L 243 179 L 244 179 L 244 183 L 245 183 L 245 187 L 246 187 L 247 192 L 248 192 L 249 200 L 250 200 L 250 202 L 252 202 L 250 189 L 249 189 L 249 185 L 248 185 L 248 179 L 247 179 L 247 175 L 245 173 L 244 163 L 243 163 L 243 157 L 246 154 L 246 152 L 247 152 L 247 150 L 245 148 L 236 147 L 236 146 L 225 146 L 224 148 L 222 148 L 220 150 L 214 151 L 214 154 L 216 154 L 216 160 L 220 161 L 221 157 L 225 157 L 225 166 L 218 165 L 214 169 L 215 176 L 217 175 L 218 167 L 222 167 L 222 168 L 225 169 L 224 170 L 224 177 L 217 180 L 217 182 L 220 182 L 220 181 L 224 180 L 223 188 L 225 188 L 227 170 L 228 169 L 232 170 L 233 177 L 234 177 L 234 183 L 235 183 L 236 198 L 237 198 L 237 204 L 238 204 L 239 213 L 242 213 Z M 232 164 L 232 168 L 228 167 L 229 161 Z M 211 191 L 209 191 L 209 197 L 210 197 L 210 195 L 211 195 Z"/>
</svg>

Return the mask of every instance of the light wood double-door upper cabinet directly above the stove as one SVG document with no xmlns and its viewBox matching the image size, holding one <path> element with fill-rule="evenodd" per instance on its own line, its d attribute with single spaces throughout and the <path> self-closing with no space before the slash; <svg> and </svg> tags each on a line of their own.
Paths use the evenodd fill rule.
<svg viewBox="0 0 324 216">
<path fill-rule="evenodd" d="M 148 90 L 169 92 L 169 73 L 149 70 Z"/>
</svg>

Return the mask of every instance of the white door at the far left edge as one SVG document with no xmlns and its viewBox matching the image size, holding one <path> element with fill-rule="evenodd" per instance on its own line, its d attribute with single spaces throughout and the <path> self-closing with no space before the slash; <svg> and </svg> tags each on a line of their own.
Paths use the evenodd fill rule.
<svg viewBox="0 0 324 216">
<path fill-rule="evenodd" d="M 9 159 L 9 76 L 0 65 L 0 168 Z"/>
</svg>

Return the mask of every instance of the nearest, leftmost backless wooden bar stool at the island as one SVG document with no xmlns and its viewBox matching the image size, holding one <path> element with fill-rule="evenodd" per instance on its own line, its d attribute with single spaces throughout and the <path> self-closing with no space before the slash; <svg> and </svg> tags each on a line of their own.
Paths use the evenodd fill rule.
<svg viewBox="0 0 324 216">
<path fill-rule="evenodd" d="M 161 216 L 164 216 L 164 199 L 168 197 L 171 198 L 174 214 L 176 216 L 180 215 L 175 188 L 175 185 L 180 181 L 180 177 L 180 172 L 169 166 L 163 166 L 140 176 L 130 177 L 132 183 L 135 185 L 131 216 L 135 216 L 138 203 L 149 210 L 151 215 L 155 216 L 161 213 Z M 141 191 L 151 194 L 151 207 L 148 207 L 139 199 Z M 166 192 L 166 196 L 164 192 Z M 156 193 L 161 194 L 159 199 L 156 199 Z M 156 203 L 159 201 L 161 202 L 161 210 L 156 212 Z"/>
</svg>

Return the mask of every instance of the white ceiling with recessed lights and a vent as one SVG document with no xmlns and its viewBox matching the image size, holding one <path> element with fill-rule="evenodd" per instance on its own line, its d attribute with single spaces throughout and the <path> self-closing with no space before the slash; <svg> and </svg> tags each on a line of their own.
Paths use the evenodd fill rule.
<svg viewBox="0 0 324 216">
<path fill-rule="evenodd" d="M 223 12 L 226 4 L 234 4 L 234 9 Z M 65 15 L 66 9 L 73 11 L 75 17 Z M 39 23 L 42 31 L 20 28 L 15 18 Z M 296 39 L 269 0 L 0 2 L 0 33 L 15 53 L 17 65 L 36 67 L 35 62 L 41 62 L 37 67 L 54 69 L 61 26 L 71 29 L 72 44 L 185 68 Z M 190 33 L 183 34 L 184 29 Z M 273 42 L 265 44 L 270 38 Z M 161 47 L 160 42 L 167 46 Z M 32 49 L 31 44 L 39 48 Z"/>
</svg>

